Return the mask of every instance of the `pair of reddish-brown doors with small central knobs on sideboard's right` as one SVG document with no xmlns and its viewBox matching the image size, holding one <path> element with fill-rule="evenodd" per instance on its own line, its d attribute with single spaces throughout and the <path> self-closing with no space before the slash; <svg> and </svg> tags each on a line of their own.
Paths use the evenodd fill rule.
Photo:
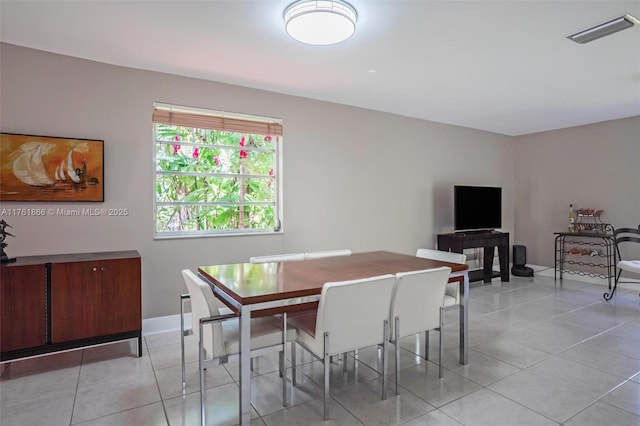
<svg viewBox="0 0 640 426">
<path fill-rule="evenodd" d="M 140 330 L 140 259 L 51 265 L 52 342 Z"/>
</svg>

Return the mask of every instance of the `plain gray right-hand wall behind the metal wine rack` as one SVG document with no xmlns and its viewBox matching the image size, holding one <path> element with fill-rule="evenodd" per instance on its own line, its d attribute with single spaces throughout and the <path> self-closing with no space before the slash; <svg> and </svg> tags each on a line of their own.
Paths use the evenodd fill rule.
<svg viewBox="0 0 640 426">
<path fill-rule="evenodd" d="M 569 204 L 603 209 L 616 228 L 640 225 L 640 117 L 514 138 L 516 239 L 527 261 L 553 266 L 553 232 Z"/>
</svg>

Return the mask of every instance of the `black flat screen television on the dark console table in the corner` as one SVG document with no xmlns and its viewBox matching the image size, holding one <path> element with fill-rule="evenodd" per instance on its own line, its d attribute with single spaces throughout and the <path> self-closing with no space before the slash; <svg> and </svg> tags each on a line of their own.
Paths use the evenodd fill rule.
<svg viewBox="0 0 640 426">
<path fill-rule="evenodd" d="M 502 188 L 490 186 L 453 187 L 455 231 L 494 230 L 502 227 Z"/>
</svg>

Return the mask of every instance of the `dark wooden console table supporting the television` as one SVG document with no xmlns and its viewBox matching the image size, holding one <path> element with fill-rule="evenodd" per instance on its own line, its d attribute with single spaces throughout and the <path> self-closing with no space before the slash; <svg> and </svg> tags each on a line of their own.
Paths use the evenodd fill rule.
<svg viewBox="0 0 640 426">
<path fill-rule="evenodd" d="M 492 278 L 500 277 L 502 281 L 509 281 L 509 233 L 486 232 L 456 232 L 454 234 L 438 235 L 438 250 L 462 253 L 466 248 L 484 248 L 484 269 L 481 273 L 469 271 L 469 281 L 484 280 L 490 283 Z M 500 273 L 494 273 L 493 248 L 498 247 Z"/>
</svg>

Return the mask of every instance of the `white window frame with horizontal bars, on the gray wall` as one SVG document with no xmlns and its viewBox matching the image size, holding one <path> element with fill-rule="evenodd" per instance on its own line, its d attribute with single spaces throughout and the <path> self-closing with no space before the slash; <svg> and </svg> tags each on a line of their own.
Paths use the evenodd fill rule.
<svg viewBox="0 0 640 426">
<path fill-rule="evenodd" d="M 158 156 L 157 156 L 157 152 L 158 152 L 158 146 L 159 144 L 167 144 L 167 141 L 162 141 L 159 140 L 156 137 L 156 124 L 158 123 L 164 123 L 164 124 L 169 124 L 169 125 L 176 125 L 176 126 L 181 126 L 181 127 L 190 127 L 190 128 L 194 128 L 194 129 L 208 129 L 208 130 L 226 130 L 226 131 L 231 131 L 233 133 L 238 133 L 238 134 L 242 134 L 242 135 L 249 135 L 249 134 L 257 134 L 257 135 L 263 135 L 262 132 L 260 133 L 249 133 L 249 132 L 238 132 L 238 131 L 233 131 L 233 130 L 229 130 L 229 129 L 216 129 L 213 127 L 207 128 L 207 127 L 198 127 L 198 126 L 186 126 L 186 125 L 182 125 L 182 124 L 176 124 L 176 123 L 166 123 L 164 122 L 163 118 L 160 118 L 159 120 L 156 118 L 156 113 L 158 111 L 161 112 L 166 112 L 166 111 L 172 111 L 172 112 L 178 112 L 178 113 L 186 113 L 187 115 L 191 114 L 193 116 L 208 116 L 208 117 L 214 117 L 214 119 L 217 118 L 221 118 L 222 121 L 227 120 L 227 121 L 232 121 L 235 122 L 235 124 L 240 124 L 240 126 L 242 126 L 242 121 L 246 121 L 249 123 L 255 122 L 258 123 L 258 125 L 262 125 L 265 123 L 271 123 L 271 124 L 265 124 L 266 127 L 264 127 L 265 129 L 271 129 L 271 125 L 277 125 L 279 126 L 280 129 L 280 133 L 275 133 L 275 136 L 273 137 L 272 143 L 273 143 L 273 153 L 274 153 L 274 161 L 273 161 L 273 169 L 274 169 L 274 173 L 273 173 L 273 182 L 274 185 L 276 186 L 276 188 L 274 189 L 274 201 L 273 202 L 256 202 L 256 203 L 252 203 L 252 202 L 247 202 L 247 203 L 243 203 L 243 202 L 216 202 L 216 201 L 209 201 L 209 202 L 200 202 L 200 203 L 196 203 L 196 202 L 163 202 L 163 201 L 158 201 L 158 193 L 157 193 L 157 184 L 159 182 L 158 177 L 159 176 L 229 176 L 229 177 L 237 177 L 239 176 L 238 174 L 228 174 L 228 173 L 206 173 L 206 172 L 171 172 L 171 171 L 159 171 L 158 170 Z M 203 108 L 195 108 L 195 107 L 187 107 L 187 106 L 179 106 L 179 105 L 173 105 L 173 104 L 164 104 L 164 103 L 158 103 L 158 102 L 154 102 L 153 103 L 153 119 L 152 119 L 152 146 L 153 146 L 153 161 L 152 161 L 152 167 L 153 167 L 153 178 L 152 178 L 152 185 L 153 185 L 153 239 L 154 240 L 165 240 L 165 239 L 182 239 L 182 238 L 203 238 L 203 237 L 232 237 L 232 236 L 258 236 L 258 235 L 278 235 L 278 234 L 283 234 L 284 233 L 284 228 L 283 228 L 283 207 L 284 207 L 284 203 L 283 203 L 283 177 L 282 177 L 282 170 L 283 170 L 283 160 L 282 160 L 282 146 L 283 146 L 283 136 L 282 136 L 282 120 L 278 119 L 278 118 L 272 118 L 272 117 L 266 117 L 266 116 L 256 116 L 256 115 L 249 115 L 249 114 L 239 114 L 239 113 L 231 113 L 231 112 L 227 112 L 227 111 L 217 111 L 217 110 L 212 110 L 212 109 L 203 109 Z M 166 114 L 165 117 L 166 119 Z M 276 130 L 277 132 L 277 130 Z M 265 133 L 263 136 L 266 135 L 272 135 L 272 133 Z M 181 146 L 198 146 L 198 147 L 213 147 L 215 145 L 209 145 L 209 144 L 197 144 L 197 143 L 193 143 L 193 142 L 184 142 L 184 141 L 180 141 L 179 145 Z M 232 149 L 229 146 L 222 146 L 223 149 Z M 238 150 L 240 150 L 240 148 L 238 148 Z M 264 148 L 252 148 L 252 147 L 246 147 L 247 151 L 254 151 L 254 152 L 268 152 L 271 151 L 269 149 L 264 149 Z M 245 177 L 251 178 L 251 175 L 243 175 Z M 224 230 L 196 230 L 196 231 L 168 231 L 168 232 L 161 232 L 158 230 L 158 207 L 162 206 L 162 205 L 177 205 L 177 204 L 181 204 L 184 203 L 185 205 L 189 205 L 189 206 L 211 206 L 211 205 L 220 205 L 220 206 L 233 206 L 233 205 L 237 205 L 237 206 L 251 206 L 251 205 L 273 205 L 273 209 L 274 209 L 274 222 L 275 222 L 275 226 L 272 229 L 265 229 L 265 228 L 260 228 L 260 229 L 251 229 L 251 228 L 233 228 L 233 229 L 224 229 Z"/>
</svg>

